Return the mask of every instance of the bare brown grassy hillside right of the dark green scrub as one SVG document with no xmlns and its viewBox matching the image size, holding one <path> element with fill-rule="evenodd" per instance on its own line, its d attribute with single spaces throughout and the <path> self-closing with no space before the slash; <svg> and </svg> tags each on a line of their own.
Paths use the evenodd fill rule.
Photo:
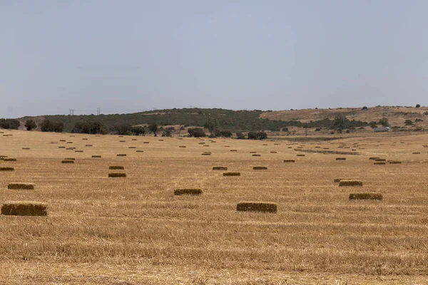
<svg viewBox="0 0 428 285">
<path fill-rule="evenodd" d="M 309 122 L 311 120 L 323 120 L 325 118 L 334 119 L 336 115 L 343 114 L 349 120 L 362 120 L 365 122 L 379 121 L 379 119 L 387 118 L 391 126 L 404 126 L 405 120 L 422 119 L 422 122 L 414 123 L 414 125 L 427 127 L 428 107 L 389 107 L 379 106 L 371 107 L 367 110 L 362 108 L 337 108 L 337 109 L 305 109 L 305 110 L 283 110 L 266 112 L 260 115 L 260 118 L 269 120 L 300 120 L 301 122 Z"/>
</svg>

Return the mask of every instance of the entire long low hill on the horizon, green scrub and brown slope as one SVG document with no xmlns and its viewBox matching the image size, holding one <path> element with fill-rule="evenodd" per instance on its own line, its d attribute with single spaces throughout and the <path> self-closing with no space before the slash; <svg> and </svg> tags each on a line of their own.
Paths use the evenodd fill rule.
<svg viewBox="0 0 428 285">
<path fill-rule="evenodd" d="M 77 122 L 98 122 L 114 131 L 116 125 L 149 125 L 159 126 L 195 126 L 203 127 L 208 118 L 218 121 L 221 130 L 280 131 L 283 128 L 335 128 L 335 118 L 345 116 L 348 128 L 368 127 L 370 122 L 379 122 L 387 118 L 391 127 L 404 127 L 405 120 L 412 120 L 413 125 L 406 128 L 427 128 L 428 108 L 414 107 L 370 107 L 335 108 L 335 109 L 305 109 L 305 110 L 226 110 L 221 108 L 183 108 L 154 110 L 141 113 L 112 114 L 112 115 L 44 115 L 38 117 L 19 118 L 21 125 L 26 120 L 35 120 L 37 124 L 44 119 L 61 121 L 64 131 L 71 132 Z M 416 120 L 416 122 L 415 122 Z"/>
</svg>

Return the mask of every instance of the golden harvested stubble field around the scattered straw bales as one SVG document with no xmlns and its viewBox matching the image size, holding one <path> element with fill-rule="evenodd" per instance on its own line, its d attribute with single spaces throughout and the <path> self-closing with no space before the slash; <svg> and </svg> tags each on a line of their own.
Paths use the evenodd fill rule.
<svg viewBox="0 0 428 285">
<path fill-rule="evenodd" d="M 14 167 L 0 172 L 0 204 L 44 202 L 49 214 L 0 215 L 0 284 L 426 284 L 427 144 L 392 133 L 296 143 L 4 130 L 0 155 L 16 161 L 0 161 Z M 175 196 L 182 188 L 203 195 Z M 360 192 L 383 199 L 349 199 Z M 277 213 L 237 212 L 243 201 Z"/>
</svg>

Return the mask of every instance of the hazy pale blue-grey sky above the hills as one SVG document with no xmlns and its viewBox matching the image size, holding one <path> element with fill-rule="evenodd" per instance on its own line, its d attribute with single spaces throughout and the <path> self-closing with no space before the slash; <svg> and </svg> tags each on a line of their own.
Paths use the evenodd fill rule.
<svg viewBox="0 0 428 285">
<path fill-rule="evenodd" d="M 0 118 L 428 105 L 427 0 L 0 0 Z"/>
</svg>

